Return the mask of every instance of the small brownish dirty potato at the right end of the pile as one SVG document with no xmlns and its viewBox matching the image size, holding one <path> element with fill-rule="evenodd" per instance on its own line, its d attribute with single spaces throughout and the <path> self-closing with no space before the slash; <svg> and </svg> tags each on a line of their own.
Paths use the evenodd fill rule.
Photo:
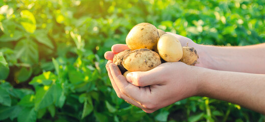
<svg viewBox="0 0 265 122">
<path fill-rule="evenodd" d="M 180 62 L 194 66 L 197 63 L 198 58 L 199 56 L 196 49 L 188 46 L 183 47 L 183 56 L 180 59 Z"/>
</svg>

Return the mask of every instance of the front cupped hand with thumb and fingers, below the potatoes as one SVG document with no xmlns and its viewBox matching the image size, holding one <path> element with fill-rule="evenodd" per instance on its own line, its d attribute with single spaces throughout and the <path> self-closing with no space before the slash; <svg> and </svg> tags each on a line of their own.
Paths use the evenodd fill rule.
<svg viewBox="0 0 265 122">
<path fill-rule="evenodd" d="M 131 72 L 127 77 L 111 60 L 106 68 L 117 96 L 147 113 L 199 93 L 198 67 L 181 62 L 164 63 L 147 72 Z"/>
</svg>

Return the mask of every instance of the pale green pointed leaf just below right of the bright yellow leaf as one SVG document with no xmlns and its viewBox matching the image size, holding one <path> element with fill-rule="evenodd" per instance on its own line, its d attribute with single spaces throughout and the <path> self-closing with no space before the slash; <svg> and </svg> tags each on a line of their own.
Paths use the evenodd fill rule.
<svg viewBox="0 0 265 122">
<path fill-rule="evenodd" d="M 34 33 L 34 36 L 36 38 L 36 40 L 50 48 L 54 48 L 54 45 L 52 43 L 52 41 L 48 38 L 46 32 L 44 30 L 39 30 L 37 29 Z"/>
</svg>

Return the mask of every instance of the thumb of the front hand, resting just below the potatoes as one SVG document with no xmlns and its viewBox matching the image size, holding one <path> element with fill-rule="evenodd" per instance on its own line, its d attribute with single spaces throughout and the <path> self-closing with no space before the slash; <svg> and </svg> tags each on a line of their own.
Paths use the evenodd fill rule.
<svg viewBox="0 0 265 122">
<path fill-rule="evenodd" d="M 128 82 L 136 86 L 158 85 L 163 82 L 163 75 L 157 71 L 130 72 L 127 74 Z"/>
</svg>

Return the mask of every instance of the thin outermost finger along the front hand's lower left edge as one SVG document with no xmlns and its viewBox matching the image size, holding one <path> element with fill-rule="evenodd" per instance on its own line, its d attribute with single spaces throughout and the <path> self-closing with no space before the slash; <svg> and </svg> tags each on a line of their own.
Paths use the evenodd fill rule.
<svg viewBox="0 0 265 122">
<path fill-rule="evenodd" d="M 111 62 L 108 62 L 108 63 L 111 63 Z M 137 106 L 138 108 L 143 109 L 146 112 L 149 112 L 150 111 L 150 110 L 147 110 L 146 108 L 144 108 L 143 106 L 141 106 L 136 101 L 134 101 L 131 98 L 129 98 L 128 96 L 122 94 L 121 91 L 119 90 L 119 88 L 117 87 L 116 83 L 114 82 L 114 79 L 113 79 L 113 77 L 111 75 L 111 71 L 109 69 L 109 64 L 106 65 L 106 69 L 108 71 L 108 75 L 109 75 L 109 78 L 110 78 L 110 81 L 111 81 L 111 85 L 112 85 L 113 89 L 115 90 L 115 92 L 116 92 L 116 94 L 117 94 L 117 96 L 119 98 L 124 99 L 126 102 L 128 102 L 130 104 L 133 104 L 133 105 Z"/>
</svg>

